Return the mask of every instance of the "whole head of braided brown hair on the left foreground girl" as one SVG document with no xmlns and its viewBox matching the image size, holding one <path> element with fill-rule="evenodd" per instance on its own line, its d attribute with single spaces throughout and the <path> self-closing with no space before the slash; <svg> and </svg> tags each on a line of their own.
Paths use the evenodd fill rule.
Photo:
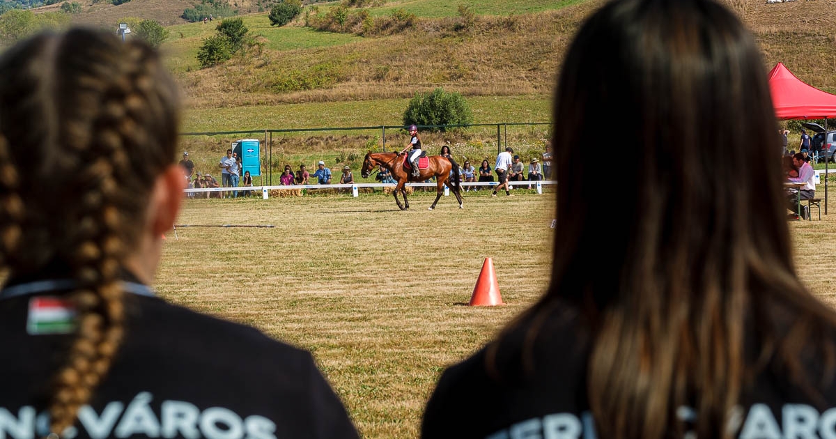
<svg viewBox="0 0 836 439">
<path fill-rule="evenodd" d="M 178 98 L 151 48 L 80 28 L 10 48 L 0 77 L 0 261 L 10 276 L 58 263 L 75 281 L 77 329 L 49 396 L 57 437 L 119 349 L 120 272 L 175 161 Z"/>
</svg>

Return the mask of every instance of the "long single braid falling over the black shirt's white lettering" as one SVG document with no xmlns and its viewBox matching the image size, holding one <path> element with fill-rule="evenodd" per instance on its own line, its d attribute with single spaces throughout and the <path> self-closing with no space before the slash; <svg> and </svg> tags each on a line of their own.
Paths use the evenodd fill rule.
<svg viewBox="0 0 836 439">
<path fill-rule="evenodd" d="M 120 192 L 115 176 L 133 172 L 126 151 L 146 144 L 152 137 L 141 118 L 154 110 L 148 108 L 153 106 L 149 94 L 154 83 L 143 71 L 148 69 L 147 63 L 141 62 L 148 56 L 147 50 L 126 45 L 122 54 L 128 58 L 119 64 L 122 71 L 113 76 L 112 83 L 101 85 L 105 96 L 99 114 L 85 121 L 95 128 L 94 137 L 89 145 L 73 145 L 81 150 L 82 162 L 89 163 L 79 173 L 81 187 L 85 188 L 78 211 L 79 227 L 69 254 L 64 255 L 73 261 L 74 278 L 79 283 L 71 294 L 79 330 L 66 365 L 56 375 L 54 399 L 49 406 L 50 431 L 55 435 L 73 425 L 79 408 L 89 401 L 110 370 L 125 332 L 119 277 L 126 242 L 132 237 L 122 230 L 123 222 L 129 220 L 121 212 L 130 215 L 131 209 L 124 206 L 125 194 Z M 94 79 L 85 80 L 89 84 Z M 68 122 L 65 129 L 84 130 L 83 123 L 69 125 L 78 122 Z"/>
</svg>

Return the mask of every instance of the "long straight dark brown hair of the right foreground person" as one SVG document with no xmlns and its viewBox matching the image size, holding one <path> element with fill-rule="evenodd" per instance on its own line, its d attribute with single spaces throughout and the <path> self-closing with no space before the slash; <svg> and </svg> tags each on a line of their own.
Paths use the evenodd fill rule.
<svg viewBox="0 0 836 439">
<path fill-rule="evenodd" d="M 777 123 L 742 23 L 711 0 L 606 4 L 568 50 L 553 120 L 552 282 L 518 322 L 579 310 L 599 435 L 681 436 L 680 406 L 696 410 L 698 437 L 734 434 L 732 408 L 762 366 L 747 324 L 755 356 L 814 393 L 799 354 L 817 346 L 832 372 L 813 334 L 836 320 L 793 268 L 780 161 L 763 153 L 778 151 Z M 606 178 L 579 148 L 601 125 L 617 145 Z"/>
</svg>

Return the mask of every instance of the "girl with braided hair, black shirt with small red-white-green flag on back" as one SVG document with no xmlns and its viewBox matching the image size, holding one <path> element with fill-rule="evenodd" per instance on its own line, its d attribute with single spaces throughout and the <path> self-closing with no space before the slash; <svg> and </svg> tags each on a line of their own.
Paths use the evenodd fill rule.
<svg viewBox="0 0 836 439">
<path fill-rule="evenodd" d="M 155 52 L 43 33 L 0 78 L 0 437 L 356 437 L 307 352 L 148 287 L 185 186 Z"/>
</svg>

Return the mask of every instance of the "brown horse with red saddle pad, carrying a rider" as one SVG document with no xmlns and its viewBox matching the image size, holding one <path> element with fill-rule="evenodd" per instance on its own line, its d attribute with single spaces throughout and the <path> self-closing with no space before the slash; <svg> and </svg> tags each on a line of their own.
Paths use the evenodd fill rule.
<svg viewBox="0 0 836 439">
<path fill-rule="evenodd" d="M 402 211 L 410 208 L 410 202 L 406 200 L 406 190 L 404 189 L 406 182 L 421 182 L 431 176 L 435 176 L 436 183 L 438 184 L 436 188 L 436 201 L 432 202 L 430 210 L 436 208 L 436 203 L 438 202 L 438 199 L 441 198 L 441 194 L 443 193 L 444 185 L 447 185 L 447 187 L 453 191 L 453 194 L 456 195 L 456 200 L 459 202 L 459 208 L 464 208 L 464 203 L 461 202 L 461 191 L 459 191 L 461 187 L 459 185 L 461 176 L 459 174 L 458 166 L 455 166 L 454 169 L 454 166 L 446 159 L 446 157 L 427 156 L 427 158 L 430 159 L 430 166 L 426 169 L 422 169 L 421 175 L 415 177 L 412 176 L 412 170 L 406 169 L 404 166 L 405 156 L 405 154 L 399 154 L 397 152 L 370 152 L 369 154 L 366 154 L 363 159 L 363 169 L 360 171 L 360 175 L 363 176 L 363 178 L 367 178 L 375 166 L 378 165 L 388 169 L 392 173 L 392 177 L 398 181 L 397 186 L 395 186 L 395 191 L 392 191 L 392 195 L 395 196 L 395 202 Z M 452 184 L 448 180 L 451 170 L 455 176 Z M 398 191 L 400 191 L 400 193 L 404 196 L 404 204 L 400 204 Z"/>
</svg>

